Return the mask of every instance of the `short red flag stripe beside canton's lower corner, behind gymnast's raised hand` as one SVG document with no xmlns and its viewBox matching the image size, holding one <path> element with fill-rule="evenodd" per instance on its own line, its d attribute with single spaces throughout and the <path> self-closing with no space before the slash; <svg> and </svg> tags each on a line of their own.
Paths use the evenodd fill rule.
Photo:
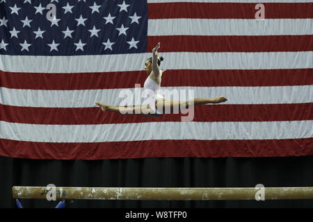
<svg viewBox="0 0 313 222">
<path fill-rule="evenodd" d="M 313 35 L 148 36 L 147 52 L 161 42 L 164 52 L 313 51 Z"/>
</svg>

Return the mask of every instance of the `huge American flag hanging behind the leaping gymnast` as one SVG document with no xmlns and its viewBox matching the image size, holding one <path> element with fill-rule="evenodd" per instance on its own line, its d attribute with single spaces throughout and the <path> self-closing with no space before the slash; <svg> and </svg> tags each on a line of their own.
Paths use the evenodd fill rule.
<svg viewBox="0 0 313 222">
<path fill-rule="evenodd" d="M 0 155 L 313 155 L 313 3 L 272 2 L 1 0 Z M 163 89 L 228 101 L 188 122 L 102 112 L 143 87 L 157 42 Z"/>
</svg>

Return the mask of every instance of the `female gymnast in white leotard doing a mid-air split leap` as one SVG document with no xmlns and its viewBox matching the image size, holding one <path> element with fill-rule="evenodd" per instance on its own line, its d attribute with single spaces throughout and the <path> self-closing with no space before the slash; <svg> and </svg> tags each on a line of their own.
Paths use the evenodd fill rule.
<svg viewBox="0 0 313 222">
<path fill-rule="evenodd" d="M 145 71 L 147 72 L 148 77 L 145 80 L 143 88 L 150 89 L 155 93 L 154 96 L 152 96 L 153 103 L 151 102 L 149 103 L 152 105 L 149 104 L 133 105 L 125 108 L 123 106 L 113 106 L 106 105 L 100 102 L 95 102 L 97 105 L 101 107 L 103 112 L 113 111 L 120 112 L 121 114 L 138 114 L 141 117 L 161 117 L 163 113 L 166 113 L 167 110 L 170 110 L 170 113 L 173 113 L 173 110 L 182 111 L 182 108 L 186 110 L 188 108 L 191 108 L 191 106 L 193 105 L 204 105 L 207 103 L 223 103 L 227 101 L 227 99 L 224 96 L 219 96 L 216 97 L 215 99 L 195 98 L 190 101 L 171 101 L 157 94 L 157 90 L 160 89 L 162 74 L 165 71 L 159 68 L 161 61 L 163 60 L 163 57 L 158 56 L 159 48 L 160 42 L 157 44 L 156 47 L 154 47 L 154 49 L 152 49 L 152 57 L 148 58 L 145 61 Z"/>
</svg>

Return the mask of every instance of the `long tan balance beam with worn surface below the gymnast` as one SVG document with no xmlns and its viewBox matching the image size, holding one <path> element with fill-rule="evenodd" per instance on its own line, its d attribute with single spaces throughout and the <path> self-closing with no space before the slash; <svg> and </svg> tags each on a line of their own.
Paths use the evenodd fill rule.
<svg viewBox="0 0 313 222">
<path fill-rule="evenodd" d="M 51 187 L 12 187 L 13 198 L 45 199 Z M 262 193 L 263 191 L 263 193 Z M 313 199 L 313 187 L 55 187 L 56 199 L 70 200 L 265 200 Z"/>
</svg>

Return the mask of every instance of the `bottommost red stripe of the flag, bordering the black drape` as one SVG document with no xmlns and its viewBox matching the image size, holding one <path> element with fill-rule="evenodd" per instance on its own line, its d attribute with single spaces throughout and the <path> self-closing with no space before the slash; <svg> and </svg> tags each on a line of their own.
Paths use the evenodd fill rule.
<svg viewBox="0 0 313 222">
<path fill-rule="evenodd" d="M 0 155 L 31 159 L 105 160 L 143 157 L 281 157 L 313 155 L 313 138 L 264 140 L 148 140 L 45 143 L 0 139 Z"/>
</svg>

